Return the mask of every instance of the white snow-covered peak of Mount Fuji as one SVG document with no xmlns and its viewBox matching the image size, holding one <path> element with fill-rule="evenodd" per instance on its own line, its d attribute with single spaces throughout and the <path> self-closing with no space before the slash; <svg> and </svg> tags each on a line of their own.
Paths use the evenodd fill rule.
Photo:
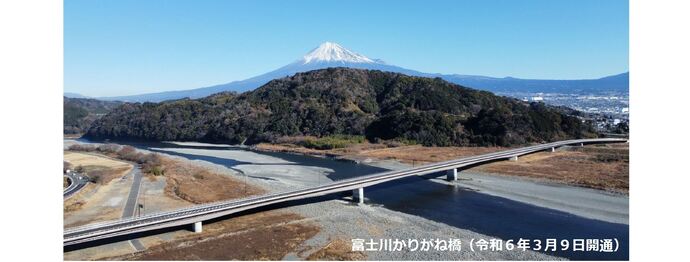
<svg viewBox="0 0 690 262">
<path fill-rule="evenodd" d="M 302 58 L 302 62 L 304 64 L 313 62 L 378 63 L 332 42 L 325 42 L 311 50 Z"/>
</svg>

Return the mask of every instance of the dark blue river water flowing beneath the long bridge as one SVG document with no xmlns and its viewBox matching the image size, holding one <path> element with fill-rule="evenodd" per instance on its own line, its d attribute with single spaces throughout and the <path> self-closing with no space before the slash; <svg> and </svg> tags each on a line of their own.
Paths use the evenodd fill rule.
<svg viewBox="0 0 690 262">
<path fill-rule="evenodd" d="M 83 142 L 88 141 L 83 140 Z M 286 167 L 286 163 L 292 166 L 325 170 L 322 173 L 328 179 L 321 180 L 312 176 L 308 178 L 312 181 L 302 181 L 310 185 L 387 171 L 387 169 L 349 161 L 287 153 L 256 152 L 228 146 L 188 146 L 167 143 L 133 145 L 190 160 L 204 160 L 239 171 L 263 170 L 262 165 L 276 165 L 271 162 L 257 163 L 252 161 L 252 158 L 244 158 L 245 155 L 260 155 L 281 160 L 280 165 L 276 165 L 277 169 L 269 168 L 265 169 L 265 172 L 251 174 L 252 177 L 265 179 L 273 179 L 275 174 L 280 173 L 281 168 Z M 224 154 L 209 154 L 209 151 Z M 228 152 L 232 154 L 227 154 Z M 232 157 L 233 155 L 240 157 Z M 251 168 L 248 168 L 249 166 Z M 459 175 L 462 177 L 462 173 Z M 482 193 L 462 186 L 462 180 L 449 184 L 439 182 L 438 179 L 431 179 L 433 177 L 434 175 L 409 177 L 367 187 L 365 188 L 366 202 L 504 240 L 539 239 L 544 243 L 547 238 L 555 238 L 559 243 L 562 240 L 568 240 L 572 245 L 574 239 L 617 239 L 620 244 L 619 249 L 612 253 L 572 251 L 572 246 L 566 251 L 542 252 L 572 260 L 628 259 L 629 226 L 627 222 L 614 223 L 578 216 L 563 210 Z M 340 198 L 342 195 L 333 197 Z M 587 195 L 584 196 L 584 198 L 587 197 Z M 627 216 L 627 200 L 625 203 Z"/>
</svg>

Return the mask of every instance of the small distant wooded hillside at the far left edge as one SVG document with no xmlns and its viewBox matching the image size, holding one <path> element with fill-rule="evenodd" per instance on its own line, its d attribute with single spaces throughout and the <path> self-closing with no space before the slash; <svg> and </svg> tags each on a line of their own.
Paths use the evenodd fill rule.
<svg viewBox="0 0 690 262">
<path fill-rule="evenodd" d="M 63 132 L 64 134 L 81 134 L 91 126 L 91 123 L 121 102 L 101 101 L 90 98 L 63 97 Z"/>
</svg>

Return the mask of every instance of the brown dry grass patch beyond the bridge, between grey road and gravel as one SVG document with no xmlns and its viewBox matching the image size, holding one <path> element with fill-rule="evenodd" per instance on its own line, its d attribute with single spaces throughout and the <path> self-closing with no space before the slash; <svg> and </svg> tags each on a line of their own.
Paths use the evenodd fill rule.
<svg viewBox="0 0 690 262">
<path fill-rule="evenodd" d="M 162 162 L 164 176 L 168 179 L 165 187 L 166 194 L 194 204 L 265 193 L 258 187 L 226 175 L 212 173 L 203 167 L 170 158 L 162 158 Z"/>
</svg>

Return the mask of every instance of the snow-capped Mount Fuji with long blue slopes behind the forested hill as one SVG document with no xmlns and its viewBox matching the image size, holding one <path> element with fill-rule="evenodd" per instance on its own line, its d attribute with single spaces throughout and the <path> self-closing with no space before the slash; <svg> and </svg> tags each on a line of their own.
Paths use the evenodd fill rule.
<svg viewBox="0 0 690 262">
<path fill-rule="evenodd" d="M 167 91 L 131 96 L 100 97 L 98 99 L 119 100 L 125 102 L 160 102 L 164 100 L 181 98 L 195 99 L 224 91 L 245 92 L 260 87 L 273 79 L 292 76 L 300 72 L 307 72 L 329 67 L 349 67 L 389 71 L 411 76 L 440 77 L 446 81 L 459 85 L 492 92 L 553 92 L 563 89 L 569 91 L 569 93 L 591 93 L 606 90 L 625 90 L 625 92 L 627 92 L 628 89 L 627 72 L 620 75 L 587 80 L 532 80 L 512 77 L 494 78 L 457 74 L 432 74 L 389 65 L 380 59 L 371 59 L 364 55 L 352 52 L 340 46 L 339 44 L 325 42 L 293 63 L 249 79 L 190 90 Z"/>
</svg>

